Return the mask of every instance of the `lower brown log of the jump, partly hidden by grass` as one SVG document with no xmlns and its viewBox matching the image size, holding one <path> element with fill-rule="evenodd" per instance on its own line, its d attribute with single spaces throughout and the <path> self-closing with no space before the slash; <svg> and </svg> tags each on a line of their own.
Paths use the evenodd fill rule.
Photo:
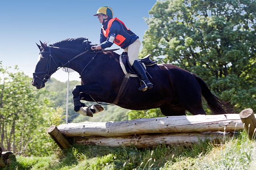
<svg viewBox="0 0 256 170">
<path fill-rule="evenodd" d="M 75 142 L 83 145 L 100 145 L 110 147 L 130 147 L 137 148 L 154 147 L 156 145 L 191 145 L 194 143 L 210 141 L 224 142 L 225 136 L 230 133 L 160 133 L 160 134 L 141 134 L 128 135 L 122 137 L 76 137 Z"/>
</svg>

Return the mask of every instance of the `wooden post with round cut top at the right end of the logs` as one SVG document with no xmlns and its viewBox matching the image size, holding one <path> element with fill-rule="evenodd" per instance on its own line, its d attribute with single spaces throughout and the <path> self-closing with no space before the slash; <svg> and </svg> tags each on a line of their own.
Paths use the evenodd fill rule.
<svg viewBox="0 0 256 170">
<path fill-rule="evenodd" d="M 254 129 L 256 128 L 256 119 L 253 114 L 253 110 L 251 108 L 244 109 L 239 113 L 239 116 L 242 120 L 242 123 L 244 123 L 244 129 L 248 134 L 249 139 L 254 140 Z"/>
</svg>

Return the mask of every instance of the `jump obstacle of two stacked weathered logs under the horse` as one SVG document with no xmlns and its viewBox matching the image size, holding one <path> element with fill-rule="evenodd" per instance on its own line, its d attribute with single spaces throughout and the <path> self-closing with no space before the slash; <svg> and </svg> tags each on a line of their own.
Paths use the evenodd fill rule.
<svg viewBox="0 0 256 170">
<path fill-rule="evenodd" d="M 61 133 L 64 138 L 71 139 L 69 141 L 84 145 L 143 148 L 158 144 L 191 145 L 205 140 L 222 140 L 228 135 L 227 132 L 242 130 L 243 123 L 239 114 L 189 115 L 119 122 L 67 123 L 55 129 L 55 134 Z M 56 141 L 56 136 L 50 131 L 48 133 Z"/>
</svg>

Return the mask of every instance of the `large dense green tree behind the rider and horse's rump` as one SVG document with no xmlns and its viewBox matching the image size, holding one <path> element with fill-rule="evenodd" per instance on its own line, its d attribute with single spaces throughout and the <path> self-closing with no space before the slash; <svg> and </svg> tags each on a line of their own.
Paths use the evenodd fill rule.
<svg viewBox="0 0 256 170">
<path fill-rule="evenodd" d="M 157 1 L 141 56 L 198 74 L 236 111 L 256 106 L 255 0 Z"/>
</svg>

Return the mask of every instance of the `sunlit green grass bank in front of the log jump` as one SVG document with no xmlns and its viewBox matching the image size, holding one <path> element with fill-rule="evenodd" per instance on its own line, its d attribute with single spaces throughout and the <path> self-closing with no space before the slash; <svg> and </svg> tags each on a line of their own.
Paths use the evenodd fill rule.
<svg viewBox="0 0 256 170">
<path fill-rule="evenodd" d="M 152 149 L 73 145 L 47 157 L 16 156 L 3 170 L 254 170 L 256 143 L 244 131 L 224 144 L 158 145 Z M 0 168 L 1 169 L 1 168 Z"/>
</svg>

